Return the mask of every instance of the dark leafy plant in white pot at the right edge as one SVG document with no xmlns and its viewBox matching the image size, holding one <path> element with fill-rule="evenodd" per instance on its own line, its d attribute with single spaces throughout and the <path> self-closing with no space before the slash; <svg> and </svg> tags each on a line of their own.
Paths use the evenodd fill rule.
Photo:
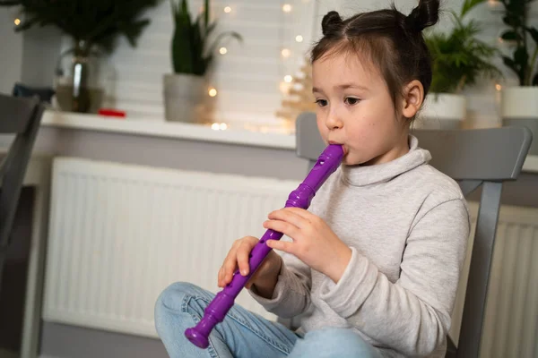
<svg viewBox="0 0 538 358">
<path fill-rule="evenodd" d="M 528 127 L 538 138 L 538 30 L 529 24 L 529 5 L 533 0 L 501 0 L 502 20 L 508 26 L 501 38 L 512 46 L 504 64 L 516 74 L 519 86 L 505 87 L 501 92 L 500 112 L 503 125 Z M 534 42 L 534 46 L 530 46 Z M 529 154 L 538 155 L 538 141 L 533 141 Z"/>
</svg>

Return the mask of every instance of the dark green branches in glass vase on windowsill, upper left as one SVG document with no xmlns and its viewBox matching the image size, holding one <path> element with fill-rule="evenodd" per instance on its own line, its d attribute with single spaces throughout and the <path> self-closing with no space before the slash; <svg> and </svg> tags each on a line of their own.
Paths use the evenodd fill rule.
<svg viewBox="0 0 538 358">
<path fill-rule="evenodd" d="M 113 51 L 117 37 L 123 35 L 133 47 L 150 23 L 141 15 L 160 0 L 0 0 L 0 6 L 19 6 L 22 22 L 16 31 L 33 26 L 55 26 L 73 43 L 65 55 L 71 55 L 65 72 L 67 81 L 56 86 L 60 107 L 74 112 L 91 112 L 100 107 L 103 90 L 95 87 L 96 56 Z M 58 61 L 60 62 L 60 61 Z"/>
</svg>

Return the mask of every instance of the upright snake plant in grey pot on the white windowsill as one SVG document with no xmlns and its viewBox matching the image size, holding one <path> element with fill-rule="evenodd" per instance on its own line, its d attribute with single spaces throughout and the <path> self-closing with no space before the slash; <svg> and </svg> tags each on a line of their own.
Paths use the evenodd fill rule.
<svg viewBox="0 0 538 358">
<path fill-rule="evenodd" d="M 204 9 L 191 20 L 187 0 L 170 0 L 174 21 L 171 40 L 173 73 L 163 76 L 163 95 L 167 121 L 194 122 L 196 108 L 201 107 L 207 92 L 206 73 L 213 64 L 217 46 L 226 36 L 242 38 L 237 32 L 223 32 L 212 42 L 217 25 L 210 22 L 209 0 Z"/>
</svg>

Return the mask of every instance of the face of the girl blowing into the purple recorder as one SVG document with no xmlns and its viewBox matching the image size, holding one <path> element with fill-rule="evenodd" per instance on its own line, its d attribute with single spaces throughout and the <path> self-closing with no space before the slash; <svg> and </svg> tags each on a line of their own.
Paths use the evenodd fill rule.
<svg viewBox="0 0 538 358">
<path fill-rule="evenodd" d="M 343 144 L 343 164 L 374 165 L 409 151 L 409 125 L 397 118 L 375 65 L 356 55 L 328 55 L 312 65 L 317 127 L 325 143 Z"/>
</svg>

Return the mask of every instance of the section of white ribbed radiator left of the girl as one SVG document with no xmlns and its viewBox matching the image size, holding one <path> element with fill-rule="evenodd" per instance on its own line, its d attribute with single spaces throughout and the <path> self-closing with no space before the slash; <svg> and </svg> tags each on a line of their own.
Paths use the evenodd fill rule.
<svg viewBox="0 0 538 358">
<path fill-rule="evenodd" d="M 264 234 L 299 183 L 57 158 L 44 320 L 157 337 L 169 284 L 209 289 L 231 243 Z M 245 290 L 236 301 L 273 320 Z"/>
</svg>

